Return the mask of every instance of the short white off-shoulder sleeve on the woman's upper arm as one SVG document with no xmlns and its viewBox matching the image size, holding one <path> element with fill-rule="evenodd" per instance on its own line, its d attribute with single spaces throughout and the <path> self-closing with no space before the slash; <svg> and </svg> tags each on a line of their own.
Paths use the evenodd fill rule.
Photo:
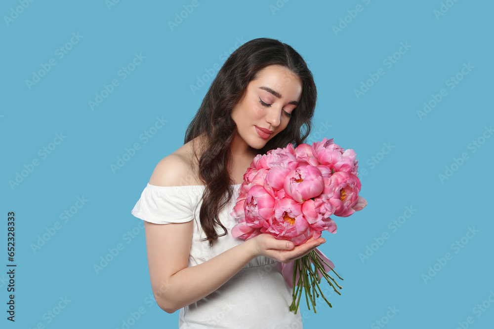
<svg viewBox="0 0 494 329">
<path fill-rule="evenodd" d="M 183 186 L 156 186 L 147 183 L 130 212 L 155 224 L 184 223 L 194 219 L 190 191 Z"/>
</svg>

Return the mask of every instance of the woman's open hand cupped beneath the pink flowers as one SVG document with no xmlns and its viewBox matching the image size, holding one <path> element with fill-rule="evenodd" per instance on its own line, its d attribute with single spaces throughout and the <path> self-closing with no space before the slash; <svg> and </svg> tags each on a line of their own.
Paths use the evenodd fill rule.
<svg viewBox="0 0 494 329">
<path fill-rule="evenodd" d="M 256 256 L 267 256 L 282 263 L 289 263 L 294 259 L 309 254 L 314 248 L 325 243 L 324 238 L 310 238 L 304 244 L 294 246 L 293 242 L 288 240 L 278 240 L 270 234 L 259 234 L 256 237 L 247 240 L 252 245 L 252 254 Z"/>
</svg>

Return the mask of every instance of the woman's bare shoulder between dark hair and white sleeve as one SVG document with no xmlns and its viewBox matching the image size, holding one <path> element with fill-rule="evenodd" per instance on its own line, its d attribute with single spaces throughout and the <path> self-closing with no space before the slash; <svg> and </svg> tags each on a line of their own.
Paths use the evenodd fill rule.
<svg viewBox="0 0 494 329">
<path fill-rule="evenodd" d="M 156 186 L 201 185 L 190 143 L 180 146 L 156 165 L 149 183 Z"/>
</svg>

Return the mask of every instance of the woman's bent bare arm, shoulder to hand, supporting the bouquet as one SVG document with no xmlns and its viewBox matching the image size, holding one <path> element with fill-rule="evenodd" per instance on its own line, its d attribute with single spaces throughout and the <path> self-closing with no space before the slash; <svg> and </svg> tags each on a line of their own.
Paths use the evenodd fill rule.
<svg viewBox="0 0 494 329">
<path fill-rule="evenodd" d="M 168 159 L 166 163 L 159 164 L 150 183 L 172 185 L 180 180 L 183 172 L 176 172 L 175 169 L 173 172 L 167 171 L 167 168 L 183 170 L 184 164 L 177 167 L 176 161 L 180 159 Z M 170 224 L 144 222 L 151 288 L 156 302 L 167 313 L 173 313 L 214 292 L 256 256 L 288 263 L 307 255 L 325 241 L 323 238 L 312 239 L 293 247 L 291 242 L 261 234 L 204 263 L 188 267 L 193 225 L 193 220 Z"/>
</svg>

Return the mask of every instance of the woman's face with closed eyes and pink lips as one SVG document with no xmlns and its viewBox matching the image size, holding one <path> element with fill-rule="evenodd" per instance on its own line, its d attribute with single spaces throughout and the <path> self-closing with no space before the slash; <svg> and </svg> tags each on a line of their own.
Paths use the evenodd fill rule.
<svg viewBox="0 0 494 329">
<path fill-rule="evenodd" d="M 237 134 L 259 149 L 285 129 L 302 95 L 302 81 L 287 68 L 270 65 L 248 83 L 244 97 L 232 110 Z"/>
</svg>

